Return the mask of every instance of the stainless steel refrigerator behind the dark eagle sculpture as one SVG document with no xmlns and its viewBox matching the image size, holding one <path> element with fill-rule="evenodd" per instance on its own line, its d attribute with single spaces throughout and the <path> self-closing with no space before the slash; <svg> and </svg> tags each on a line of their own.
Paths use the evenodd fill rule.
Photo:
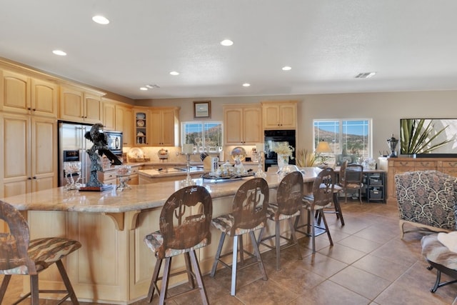
<svg viewBox="0 0 457 305">
<path fill-rule="evenodd" d="M 59 121 L 59 186 L 67 184 L 64 173 L 65 161 L 81 161 L 81 175 L 78 182 L 86 184 L 89 181 L 91 161 L 86 149 L 91 148 L 92 142 L 84 138 L 84 134 L 90 130 L 89 124 Z"/>
</svg>

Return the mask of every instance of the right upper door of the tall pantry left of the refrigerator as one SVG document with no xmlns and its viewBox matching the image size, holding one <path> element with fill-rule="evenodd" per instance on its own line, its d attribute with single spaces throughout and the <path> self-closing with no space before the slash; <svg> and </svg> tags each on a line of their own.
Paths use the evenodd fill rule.
<svg viewBox="0 0 457 305">
<path fill-rule="evenodd" d="M 58 86 L 49 81 L 31 79 L 31 114 L 57 117 Z"/>
</svg>

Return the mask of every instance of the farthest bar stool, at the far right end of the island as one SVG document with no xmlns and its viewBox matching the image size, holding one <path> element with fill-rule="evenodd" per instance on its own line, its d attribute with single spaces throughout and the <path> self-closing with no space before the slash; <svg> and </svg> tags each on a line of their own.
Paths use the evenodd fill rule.
<svg viewBox="0 0 457 305">
<path fill-rule="evenodd" d="M 331 239 L 330 231 L 328 230 L 328 225 L 326 221 L 325 213 L 322 213 L 323 208 L 330 205 L 333 201 L 333 190 L 334 190 L 334 181 L 335 173 L 333 169 L 326 168 L 317 175 L 316 179 L 313 182 L 313 194 L 303 196 L 302 209 L 306 209 L 308 215 L 308 221 L 302 226 L 298 226 L 299 216 L 296 217 L 295 221 L 295 230 L 310 236 L 313 244 L 313 254 L 316 253 L 316 236 L 323 233 L 327 233 L 328 240 L 330 241 L 331 246 L 333 246 L 333 241 Z M 320 211 L 319 215 L 322 217 L 324 226 L 318 226 L 315 224 L 314 212 Z M 302 227 L 306 226 L 306 231 L 300 231 Z M 316 234 L 316 228 L 323 231 Z M 311 231 L 311 232 L 310 232 Z"/>
</svg>

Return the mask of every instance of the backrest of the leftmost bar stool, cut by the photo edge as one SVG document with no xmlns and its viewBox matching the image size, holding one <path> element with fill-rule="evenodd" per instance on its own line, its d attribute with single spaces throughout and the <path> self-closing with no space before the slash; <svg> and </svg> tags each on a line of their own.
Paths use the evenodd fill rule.
<svg viewBox="0 0 457 305">
<path fill-rule="evenodd" d="M 37 274 L 34 261 L 29 258 L 29 226 L 21 213 L 0 201 L 0 219 L 9 226 L 9 232 L 0 233 L 0 270 L 24 266 L 20 274 Z"/>
</svg>

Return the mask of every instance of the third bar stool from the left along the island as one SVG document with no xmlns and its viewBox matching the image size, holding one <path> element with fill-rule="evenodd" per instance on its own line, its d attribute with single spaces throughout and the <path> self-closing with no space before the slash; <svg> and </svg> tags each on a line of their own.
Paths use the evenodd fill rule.
<svg viewBox="0 0 457 305">
<path fill-rule="evenodd" d="M 268 208 L 269 189 L 266 180 L 263 178 L 253 178 L 244 182 L 236 191 L 233 199 L 233 211 L 231 214 L 221 215 L 213 219 L 211 224 L 216 229 L 221 230 L 221 239 L 214 258 L 211 276 L 215 276 L 217 264 L 220 262 L 226 268 L 231 269 L 231 290 L 232 296 L 236 293 L 236 270 L 238 261 L 238 237 L 239 237 L 239 253 L 241 265 L 244 264 L 243 255 L 246 253 L 251 257 L 256 258 L 251 264 L 241 266 L 239 269 L 244 269 L 253 264 L 258 264 L 258 267 L 263 276 L 263 280 L 267 280 L 265 267 L 263 266 L 262 257 L 258 250 L 256 236 L 254 231 L 263 228 L 266 224 L 266 210 Z M 251 244 L 254 254 L 243 249 L 243 234 L 251 236 Z M 226 235 L 233 237 L 233 250 L 227 254 L 222 254 L 222 246 Z M 226 264 L 221 260 L 222 257 L 232 255 L 232 264 Z"/>
</svg>

